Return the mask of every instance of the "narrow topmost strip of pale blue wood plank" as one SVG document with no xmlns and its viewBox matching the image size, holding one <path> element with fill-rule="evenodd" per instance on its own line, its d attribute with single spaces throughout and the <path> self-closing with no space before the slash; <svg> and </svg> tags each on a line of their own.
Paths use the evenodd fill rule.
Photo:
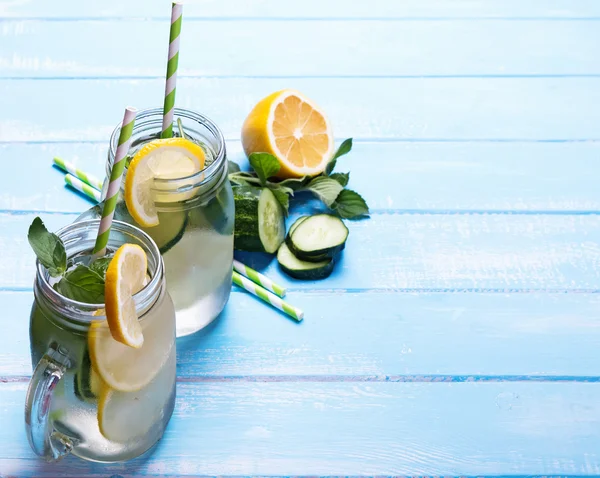
<svg viewBox="0 0 600 478">
<path fill-rule="evenodd" d="M 168 8 L 157 0 L 118 0 L 79 2 L 62 0 L 5 1 L 0 3 L 0 17 L 7 18 L 99 18 L 110 21 L 125 18 L 167 18 Z M 588 18 L 600 17 L 595 0 L 188 0 L 186 18 Z"/>
</svg>

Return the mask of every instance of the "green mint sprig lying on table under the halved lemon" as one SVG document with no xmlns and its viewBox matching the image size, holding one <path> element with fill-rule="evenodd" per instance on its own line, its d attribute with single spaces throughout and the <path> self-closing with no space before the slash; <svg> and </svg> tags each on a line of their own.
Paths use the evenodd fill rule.
<svg viewBox="0 0 600 478">
<path fill-rule="evenodd" d="M 271 189 L 286 215 L 290 197 L 295 192 L 310 192 L 344 219 L 358 219 L 369 214 L 369 206 L 357 192 L 347 189 L 350 173 L 334 173 L 337 160 L 352 150 L 352 138 L 340 144 L 325 171 L 315 177 L 273 180 L 280 169 L 277 158 L 269 153 L 252 153 L 248 160 L 254 172 L 240 171 L 235 163 L 229 165 L 229 180 L 236 186 L 262 186 Z"/>
</svg>

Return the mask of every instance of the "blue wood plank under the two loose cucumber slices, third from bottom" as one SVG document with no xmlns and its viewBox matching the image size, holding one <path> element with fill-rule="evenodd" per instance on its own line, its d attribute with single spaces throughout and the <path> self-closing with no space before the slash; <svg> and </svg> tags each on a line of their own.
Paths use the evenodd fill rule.
<svg viewBox="0 0 600 478">
<path fill-rule="evenodd" d="M 0 287 L 31 287 L 33 217 L 0 214 Z M 75 217 L 44 219 L 56 229 Z M 293 290 L 600 290 L 599 215 L 376 214 L 347 224 L 346 250 L 327 280 L 290 279 L 267 255 L 239 257 Z"/>
</svg>

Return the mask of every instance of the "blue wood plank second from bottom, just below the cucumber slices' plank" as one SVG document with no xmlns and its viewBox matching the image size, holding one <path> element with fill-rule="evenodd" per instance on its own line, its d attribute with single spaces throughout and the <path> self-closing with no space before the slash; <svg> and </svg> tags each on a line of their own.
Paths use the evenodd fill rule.
<svg viewBox="0 0 600 478">
<path fill-rule="evenodd" d="M 29 376 L 31 292 L 0 292 L 0 381 Z M 588 380 L 595 294 L 291 293 L 297 325 L 245 292 L 177 342 L 180 380 Z M 240 378 L 243 380 L 243 378 Z"/>
</svg>

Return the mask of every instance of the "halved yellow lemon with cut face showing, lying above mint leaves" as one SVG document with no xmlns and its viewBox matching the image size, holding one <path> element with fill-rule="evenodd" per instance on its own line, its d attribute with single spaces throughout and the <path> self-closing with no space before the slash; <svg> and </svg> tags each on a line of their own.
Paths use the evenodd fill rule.
<svg viewBox="0 0 600 478">
<path fill-rule="evenodd" d="M 277 91 L 250 112 L 242 127 L 247 155 L 271 153 L 279 160 L 279 178 L 314 176 L 333 155 L 333 133 L 325 113 L 295 90 Z"/>
</svg>

